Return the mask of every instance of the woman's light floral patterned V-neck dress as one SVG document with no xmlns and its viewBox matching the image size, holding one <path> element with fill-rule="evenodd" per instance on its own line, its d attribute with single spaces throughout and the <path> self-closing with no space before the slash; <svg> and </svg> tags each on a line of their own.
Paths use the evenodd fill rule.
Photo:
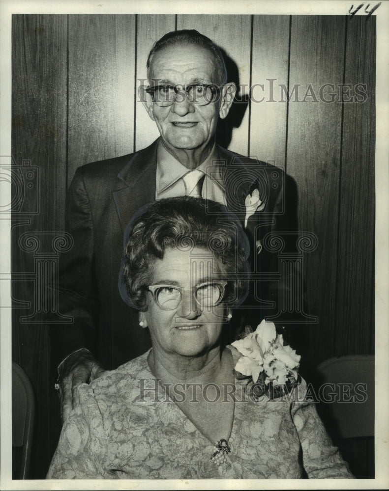
<svg viewBox="0 0 389 491">
<path fill-rule="evenodd" d="M 217 466 L 214 443 L 160 387 L 148 354 L 79 387 L 47 479 L 299 479 L 302 467 L 309 478 L 353 477 L 303 400 L 304 381 L 293 401 L 256 400 L 236 380 L 231 453 Z"/>
</svg>

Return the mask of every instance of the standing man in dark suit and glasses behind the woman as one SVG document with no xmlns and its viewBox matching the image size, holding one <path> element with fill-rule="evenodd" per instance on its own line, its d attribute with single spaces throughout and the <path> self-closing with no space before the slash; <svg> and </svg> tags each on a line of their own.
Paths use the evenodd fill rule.
<svg viewBox="0 0 389 491">
<path fill-rule="evenodd" d="M 52 328 L 54 360 L 89 348 L 104 367 L 115 368 L 150 347 L 138 313 L 118 291 L 123 232 L 141 206 L 184 194 L 219 201 L 239 215 L 257 252 L 275 216 L 285 218 L 281 171 L 272 167 L 270 178 L 266 164 L 215 143 L 218 119 L 228 115 L 236 91 L 217 46 L 195 30 L 170 32 L 155 43 L 147 68 L 149 86 L 140 96 L 160 138 L 134 154 L 78 168 L 68 191 L 74 246 L 62 258 L 60 312 L 74 323 Z M 255 270 L 266 271 L 266 251 L 260 257 Z M 65 392 L 101 370 L 86 350 L 61 369 Z M 69 408 L 65 403 L 64 418 Z"/>
</svg>

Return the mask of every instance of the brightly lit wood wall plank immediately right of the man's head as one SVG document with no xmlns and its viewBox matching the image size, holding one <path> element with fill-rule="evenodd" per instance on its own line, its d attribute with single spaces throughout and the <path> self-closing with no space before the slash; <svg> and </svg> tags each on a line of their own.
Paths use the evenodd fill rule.
<svg viewBox="0 0 389 491">
<path fill-rule="evenodd" d="M 178 29 L 196 29 L 208 36 L 227 54 L 230 81 L 241 86 L 241 97 L 250 84 L 251 16 L 249 15 L 179 15 Z M 229 59 L 231 61 L 229 61 Z M 226 121 L 219 121 L 217 140 L 237 153 L 248 153 L 247 105 L 234 104 Z"/>
</svg>

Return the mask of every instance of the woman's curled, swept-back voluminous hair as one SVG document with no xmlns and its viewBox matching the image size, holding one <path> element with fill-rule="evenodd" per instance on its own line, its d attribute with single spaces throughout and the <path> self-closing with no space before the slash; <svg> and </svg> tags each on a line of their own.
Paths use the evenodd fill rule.
<svg viewBox="0 0 389 491">
<path fill-rule="evenodd" d="M 147 310 L 147 287 L 155 259 L 168 248 L 208 249 L 227 273 L 226 301 L 247 296 L 249 244 L 239 218 L 214 201 L 181 196 L 155 201 L 139 210 L 124 234 L 119 289 L 122 299 Z"/>
</svg>

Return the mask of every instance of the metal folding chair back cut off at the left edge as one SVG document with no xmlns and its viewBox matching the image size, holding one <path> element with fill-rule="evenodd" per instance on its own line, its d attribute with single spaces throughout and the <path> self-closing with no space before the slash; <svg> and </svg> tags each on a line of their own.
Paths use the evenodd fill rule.
<svg viewBox="0 0 389 491">
<path fill-rule="evenodd" d="M 31 441 L 35 415 L 35 399 L 26 373 L 12 362 L 12 450 L 19 453 L 19 465 L 13 459 L 12 478 L 28 477 L 31 459 Z"/>
</svg>

